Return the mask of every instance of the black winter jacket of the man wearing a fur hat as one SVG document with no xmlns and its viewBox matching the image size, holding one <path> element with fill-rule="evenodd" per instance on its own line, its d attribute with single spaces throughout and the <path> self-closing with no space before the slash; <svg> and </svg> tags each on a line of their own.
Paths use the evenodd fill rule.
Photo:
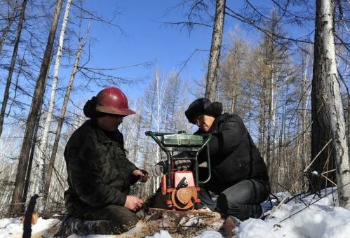
<svg viewBox="0 0 350 238">
<path fill-rule="evenodd" d="M 217 116 L 208 133 L 212 134 L 209 143 L 211 183 L 232 186 L 244 179 L 269 180 L 265 162 L 238 115 Z M 198 130 L 195 134 L 203 132 Z M 199 162 L 206 160 L 205 154 L 203 150 Z"/>
</svg>

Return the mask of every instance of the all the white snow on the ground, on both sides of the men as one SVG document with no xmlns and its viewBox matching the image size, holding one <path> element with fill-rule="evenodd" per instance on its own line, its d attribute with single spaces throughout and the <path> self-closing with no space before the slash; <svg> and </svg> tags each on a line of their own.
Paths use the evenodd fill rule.
<svg viewBox="0 0 350 238">
<path fill-rule="evenodd" d="M 331 190 L 324 190 L 326 197 L 319 199 L 310 195 L 302 199 L 293 199 L 286 204 L 282 204 L 271 218 L 264 221 L 250 218 L 241 222 L 236 228 L 236 237 L 239 238 L 349 238 L 350 237 L 350 211 L 337 205 L 336 192 L 332 195 Z M 285 196 L 286 193 L 278 194 L 278 197 Z M 264 207 L 270 203 L 264 202 Z M 274 207 L 276 209 L 276 207 Z M 271 212 L 271 211 L 270 211 Z M 33 234 L 41 234 L 42 237 L 52 237 L 48 232 L 57 219 L 44 220 L 39 218 L 38 223 L 33 225 Z M 20 237 L 22 235 L 22 224 L 15 218 L 0 219 L 0 237 Z M 107 238 L 107 235 L 79 236 L 71 235 L 69 238 Z M 148 238 L 170 238 L 171 235 L 162 230 L 149 236 Z M 203 231 L 196 238 L 221 238 L 219 232 Z"/>
</svg>

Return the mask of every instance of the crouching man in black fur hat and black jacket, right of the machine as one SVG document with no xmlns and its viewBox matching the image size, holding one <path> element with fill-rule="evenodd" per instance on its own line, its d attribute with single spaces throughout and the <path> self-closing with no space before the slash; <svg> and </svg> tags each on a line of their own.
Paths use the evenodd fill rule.
<svg viewBox="0 0 350 238">
<path fill-rule="evenodd" d="M 194 134 L 212 135 L 209 142 L 211 179 L 199 192 L 202 207 L 220 211 L 224 216 L 239 220 L 260 218 L 260 203 L 270 193 L 267 166 L 260 152 L 236 114 L 222 113 L 220 102 L 196 99 L 185 115 L 190 123 L 199 128 Z M 198 156 L 198 164 L 206 161 L 206 150 Z M 177 167 L 189 165 L 189 160 L 179 160 Z M 152 176 L 165 172 L 164 163 L 158 163 L 150 172 Z M 207 168 L 199 167 L 201 181 L 208 177 Z M 218 195 L 213 201 L 210 192 Z M 200 207 L 199 207 L 200 208 Z"/>
</svg>

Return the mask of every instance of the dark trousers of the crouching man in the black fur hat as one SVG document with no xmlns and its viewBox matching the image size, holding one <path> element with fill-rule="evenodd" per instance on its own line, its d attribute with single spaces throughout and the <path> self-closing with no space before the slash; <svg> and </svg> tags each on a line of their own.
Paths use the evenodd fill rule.
<svg viewBox="0 0 350 238">
<path fill-rule="evenodd" d="M 206 207 L 218 210 L 224 216 L 234 216 L 241 221 L 260 218 L 262 215 L 260 203 L 264 202 L 270 193 L 269 181 L 255 179 L 243 180 L 228 188 L 223 188 L 217 183 L 208 183 L 203 187 L 199 198 Z M 208 191 L 219 195 L 216 201 L 212 200 Z"/>
</svg>

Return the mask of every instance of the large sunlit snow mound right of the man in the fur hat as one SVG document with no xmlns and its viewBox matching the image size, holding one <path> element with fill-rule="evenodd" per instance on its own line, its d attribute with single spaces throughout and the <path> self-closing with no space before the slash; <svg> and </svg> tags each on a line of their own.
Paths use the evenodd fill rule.
<svg viewBox="0 0 350 238">
<path fill-rule="evenodd" d="M 324 190 L 323 194 L 330 191 Z M 336 198 L 335 194 L 321 200 L 314 195 L 304 197 L 302 201 L 294 199 L 282 204 L 270 219 L 243 221 L 235 230 L 237 237 L 348 238 L 350 211 L 333 207 Z"/>
</svg>

